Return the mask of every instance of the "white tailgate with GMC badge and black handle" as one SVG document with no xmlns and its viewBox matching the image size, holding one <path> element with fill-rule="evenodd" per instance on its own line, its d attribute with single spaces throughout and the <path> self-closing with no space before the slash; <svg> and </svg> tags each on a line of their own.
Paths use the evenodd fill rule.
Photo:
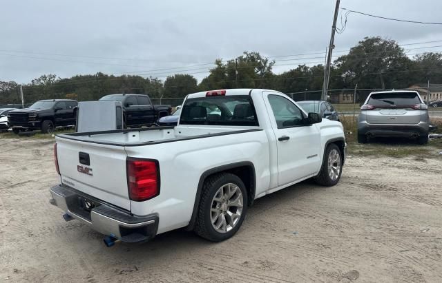
<svg viewBox="0 0 442 283">
<path fill-rule="evenodd" d="M 124 147 L 57 138 L 61 182 L 78 191 L 131 210 Z"/>
</svg>

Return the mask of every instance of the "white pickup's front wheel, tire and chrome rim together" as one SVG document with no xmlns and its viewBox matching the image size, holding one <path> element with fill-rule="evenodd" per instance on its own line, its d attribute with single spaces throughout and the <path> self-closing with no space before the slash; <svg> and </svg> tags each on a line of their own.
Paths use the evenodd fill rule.
<svg viewBox="0 0 442 283">
<path fill-rule="evenodd" d="M 315 177 L 315 181 L 319 185 L 327 187 L 336 185 L 342 174 L 342 164 L 343 157 L 339 147 L 334 143 L 330 144 L 327 149 L 325 149 L 323 166 L 318 176 Z"/>
</svg>

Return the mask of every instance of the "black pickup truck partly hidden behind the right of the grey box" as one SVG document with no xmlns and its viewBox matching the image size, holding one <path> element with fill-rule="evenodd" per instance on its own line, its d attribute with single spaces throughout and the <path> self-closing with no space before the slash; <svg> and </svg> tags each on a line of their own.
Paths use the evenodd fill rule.
<svg viewBox="0 0 442 283">
<path fill-rule="evenodd" d="M 158 118 L 169 116 L 171 105 L 153 105 L 145 94 L 109 94 L 99 101 L 120 101 L 126 127 L 151 126 Z"/>
</svg>

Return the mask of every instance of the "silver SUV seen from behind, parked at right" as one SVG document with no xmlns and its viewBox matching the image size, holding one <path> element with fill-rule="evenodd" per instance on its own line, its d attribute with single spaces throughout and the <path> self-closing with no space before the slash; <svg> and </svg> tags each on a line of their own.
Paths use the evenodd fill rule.
<svg viewBox="0 0 442 283">
<path fill-rule="evenodd" d="M 428 107 L 419 92 L 372 92 L 358 117 L 358 143 L 367 143 L 369 137 L 397 136 L 417 138 L 423 145 L 428 143 L 429 127 Z"/>
</svg>

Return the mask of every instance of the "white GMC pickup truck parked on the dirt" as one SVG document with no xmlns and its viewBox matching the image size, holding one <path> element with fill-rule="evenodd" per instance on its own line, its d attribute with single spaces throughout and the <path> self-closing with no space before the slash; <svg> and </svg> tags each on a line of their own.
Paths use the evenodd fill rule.
<svg viewBox="0 0 442 283">
<path fill-rule="evenodd" d="M 238 231 L 253 200 L 314 177 L 335 185 L 343 126 L 272 90 L 186 96 L 176 127 L 59 134 L 52 205 L 106 235 L 144 242 L 187 227 L 211 241 Z"/>
</svg>

